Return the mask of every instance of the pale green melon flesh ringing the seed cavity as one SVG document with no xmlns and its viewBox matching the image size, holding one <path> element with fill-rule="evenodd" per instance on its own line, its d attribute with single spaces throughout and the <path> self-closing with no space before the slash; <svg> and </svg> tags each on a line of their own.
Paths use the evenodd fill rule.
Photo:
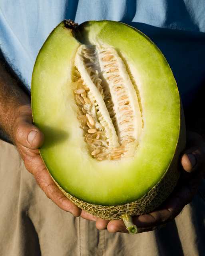
<svg viewBox="0 0 205 256">
<path fill-rule="evenodd" d="M 72 77 L 82 44 L 114 48 L 131 70 L 143 119 L 139 145 L 131 157 L 98 161 L 88 151 L 77 119 Z M 180 110 L 175 79 L 159 49 L 144 34 L 120 22 L 89 21 L 74 29 L 62 22 L 36 59 L 32 114 L 45 135 L 40 154 L 54 180 L 85 202 L 121 205 L 155 187 L 180 153 L 175 152 Z"/>
</svg>

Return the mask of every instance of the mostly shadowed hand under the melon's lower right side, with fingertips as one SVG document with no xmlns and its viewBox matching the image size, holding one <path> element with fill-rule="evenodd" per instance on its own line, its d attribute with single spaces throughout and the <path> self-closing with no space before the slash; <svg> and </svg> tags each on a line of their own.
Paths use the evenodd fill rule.
<svg viewBox="0 0 205 256">
<path fill-rule="evenodd" d="M 191 202 L 205 174 L 205 140 L 197 133 L 187 133 L 187 150 L 181 157 L 181 178 L 173 193 L 156 210 L 149 214 L 133 217 L 138 233 L 154 230 L 173 220 Z M 122 220 L 98 218 L 96 228 L 111 232 L 128 233 Z"/>
</svg>

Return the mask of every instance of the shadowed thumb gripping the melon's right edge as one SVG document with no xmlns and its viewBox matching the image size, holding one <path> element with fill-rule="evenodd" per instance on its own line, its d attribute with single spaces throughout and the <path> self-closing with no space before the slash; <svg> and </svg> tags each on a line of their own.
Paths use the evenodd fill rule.
<svg viewBox="0 0 205 256">
<path fill-rule="evenodd" d="M 183 154 L 181 164 L 185 171 L 194 172 L 195 170 L 199 170 L 204 163 L 204 159 L 203 151 L 200 148 L 193 148 Z"/>
</svg>

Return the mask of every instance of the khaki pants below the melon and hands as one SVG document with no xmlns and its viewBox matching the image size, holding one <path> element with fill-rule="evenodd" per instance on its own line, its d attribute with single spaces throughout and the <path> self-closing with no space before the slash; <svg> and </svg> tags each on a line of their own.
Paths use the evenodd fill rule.
<svg viewBox="0 0 205 256">
<path fill-rule="evenodd" d="M 130 235 L 98 231 L 49 200 L 16 148 L 0 140 L 1 256 L 205 255 L 205 182 L 165 228 Z"/>
</svg>

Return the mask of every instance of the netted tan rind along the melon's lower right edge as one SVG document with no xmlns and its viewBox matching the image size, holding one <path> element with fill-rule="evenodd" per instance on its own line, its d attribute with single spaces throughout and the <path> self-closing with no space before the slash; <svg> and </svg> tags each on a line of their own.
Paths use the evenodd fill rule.
<svg viewBox="0 0 205 256">
<path fill-rule="evenodd" d="M 185 132 L 185 120 L 183 114 L 183 108 L 181 105 L 180 112 L 181 126 L 179 131 L 179 139 L 177 147 L 175 150 L 175 155 L 173 160 L 165 172 L 161 180 L 154 186 L 147 194 L 142 198 L 134 202 L 130 202 L 122 205 L 114 206 L 103 206 L 98 204 L 91 204 L 84 202 L 68 192 L 66 192 L 52 177 L 58 188 L 63 192 L 63 194 L 76 204 L 82 210 L 89 212 L 90 214 L 103 218 L 105 220 L 119 220 L 123 214 L 128 214 L 131 216 L 137 216 L 151 212 L 155 208 L 159 207 L 171 194 L 175 188 L 177 181 L 179 180 L 180 170 L 179 170 L 179 156 L 182 150 L 185 148 L 186 144 L 186 132 Z"/>
</svg>

